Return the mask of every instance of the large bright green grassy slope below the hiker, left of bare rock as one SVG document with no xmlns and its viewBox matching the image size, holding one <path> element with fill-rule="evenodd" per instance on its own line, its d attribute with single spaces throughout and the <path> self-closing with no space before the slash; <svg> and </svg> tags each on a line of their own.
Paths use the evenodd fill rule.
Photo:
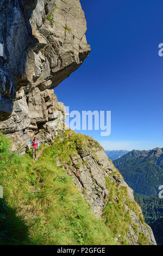
<svg viewBox="0 0 163 256">
<path fill-rule="evenodd" d="M 10 157 L 9 142 L 1 134 L 1 166 Z M 1 245 L 116 244 L 48 149 L 36 163 L 28 154 L 15 156 L 1 170 L 0 184 Z"/>
</svg>

